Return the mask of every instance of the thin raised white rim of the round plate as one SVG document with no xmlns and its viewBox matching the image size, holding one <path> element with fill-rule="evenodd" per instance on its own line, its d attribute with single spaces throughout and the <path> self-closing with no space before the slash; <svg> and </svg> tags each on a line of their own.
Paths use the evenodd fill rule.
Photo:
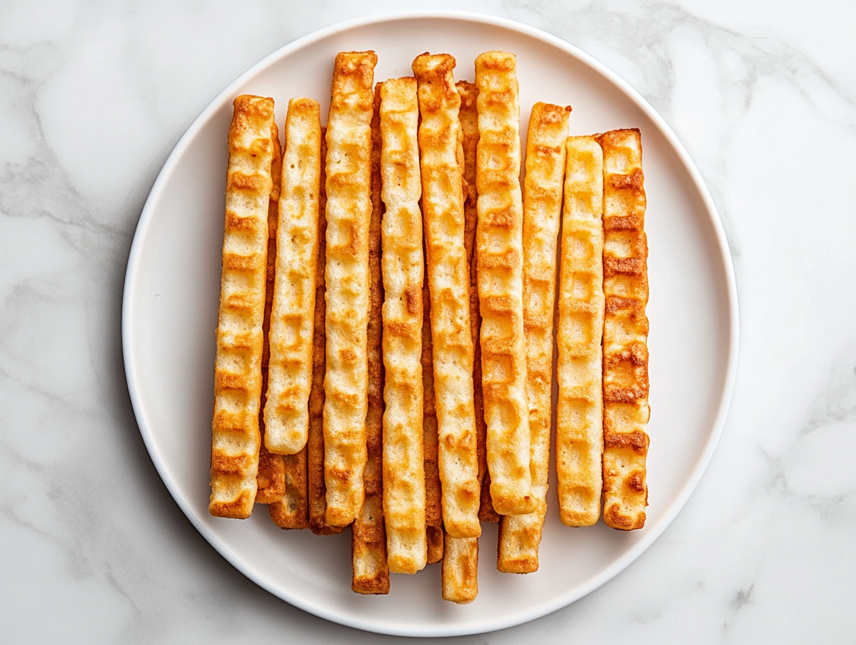
<svg viewBox="0 0 856 645">
<path fill-rule="evenodd" d="M 181 158 L 184 152 L 186 152 L 187 147 L 193 141 L 196 134 L 199 132 L 199 129 L 201 129 L 205 122 L 208 121 L 211 114 L 221 107 L 223 100 L 228 99 L 235 92 L 236 87 L 240 86 L 249 77 L 255 75 L 259 70 L 264 69 L 276 59 L 286 57 L 292 52 L 302 49 L 306 45 L 311 45 L 318 40 L 329 38 L 337 33 L 345 33 L 367 25 L 413 19 L 469 21 L 496 27 L 504 27 L 565 51 L 570 56 L 577 58 L 581 63 L 586 64 L 599 75 L 603 75 L 608 81 L 612 82 L 615 87 L 617 87 L 627 97 L 627 99 L 633 101 L 633 103 L 637 105 L 652 122 L 655 123 L 657 128 L 659 128 L 663 133 L 666 140 L 668 140 L 669 145 L 672 146 L 675 152 L 677 152 L 678 158 L 680 158 L 681 163 L 692 178 L 693 188 L 698 192 L 698 195 L 704 204 L 706 215 L 710 220 L 709 224 L 712 226 L 716 236 L 718 260 L 721 263 L 722 271 L 724 272 L 725 286 L 728 296 L 728 365 L 725 370 L 724 379 L 722 380 L 722 391 L 720 393 L 716 415 L 714 417 L 712 427 L 710 428 L 710 437 L 707 440 L 707 443 L 704 446 L 704 451 L 702 451 L 691 475 L 687 479 L 687 482 L 683 487 L 681 487 L 677 496 L 667 506 L 662 519 L 657 523 L 657 525 L 652 527 L 651 530 L 646 531 L 644 537 L 625 552 L 621 558 L 617 558 L 615 562 L 602 570 L 597 576 L 592 577 L 591 581 L 587 584 L 582 585 L 580 588 L 575 588 L 572 592 L 560 594 L 556 596 L 556 598 L 549 602 L 544 602 L 529 612 L 514 616 L 514 618 L 496 617 L 491 618 L 490 620 L 477 621 L 473 624 L 437 624 L 433 629 L 425 629 L 423 627 L 410 629 L 406 626 L 400 625 L 378 624 L 377 619 L 365 620 L 342 616 L 337 612 L 324 608 L 324 606 L 319 606 L 315 603 L 302 600 L 299 597 L 294 597 L 282 588 L 278 588 L 273 584 L 268 584 L 263 578 L 256 576 L 255 572 L 244 564 L 243 560 L 229 546 L 223 543 L 217 535 L 212 533 L 203 523 L 201 523 L 199 517 L 197 517 L 187 499 L 185 499 L 184 495 L 178 490 L 175 481 L 169 475 L 169 470 L 167 469 L 166 464 L 163 462 L 160 453 L 155 448 L 152 432 L 146 422 L 144 405 L 141 401 L 139 391 L 140 385 L 137 378 L 138 367 L 134 361 L 134 352 L 131 344 L 131 340 L 134 337 L 133 310 L 135 303 L 133 294 L 136 284 L 140 278 L 141 249 L 145 245 L 147 231 L 150 229 L 153 217 L 152 212 L 155 211 L 157 202 L 163 194 L 163 187 L 166 182 L 168 182 L 169 176 L 175 169 L 179 158 Z M 258 63 L 254 63 L 246 71 L 241 73 L 241 75 L 235 77 L 235 79 L 229 82 L 229 84 L 224 87 L 220 93 L 217 93 L 217 96 L 211 99 L 211 102 L 206 105 L 201 112 L 199 112 L 199 115 L 196 116 L 195 119 L 193 119 L 193 122 L 191 122 L 187 127 L 184 134 L 182 134 L 181 138 L 175 143 L 172 151 L 169 152 L 169 156 L 163 163 L 163 167 L 158 172 L 158 177 L 152 184 L 152 189 L 146 198 L 146 203 L 140 212 L 140 219 L 138 220 L 136 229 L 134 230 L 134 238 L 128 253 L 128 266 L 126 268 L 125 282 L 122 290 L 122 358 L 124 361 L 125 376 L 128 381 L 128 395 L 131 399 L 132 408 L 134 409 L 134 418 L 137 421 L 137 426 L 140 429 L 140 435 L 146 445 L 146 451 L 148 451 L 149 457 L 152 459 L 152 463 L 154 463 L 155 468 L 158 470 L 158 475 L 163 481 L 163 484 L 167 487 L 167 490 L 175 500 L 176 504 L 179 505 L 181 511 L 185 514 L 190 523 L 193 524 L 193 527 L 199 531 L 199 534 L 202 535 L 205 540 L 229 562 L 229 564 L 232 564 L 235 569 L 241 571 L 241 574 L 247 576 L 247 578 L 255 582 L 259 587 L 270 592 L 270 594 L 274 594 L 276 597 L 287 601 L 290 605 L 299 607 L 303 611 L 312 613 L 315 616 L 325 618 L 337 624 L 344 624 L 360 630 L 393 636 L 466 636 L 524 624 L 536 618 L 541 618 L 551 612 L 555 612 L 564 606 L 570 605 L 576 600 L 580 600 L 580 598 L 591 594 L 592 591 L 602 587 L 603 584 L 609 582 L 609 580 L 618 575 L 622 570 L 626 569 L 627 566 L 639 558 L 639 556 L 641 556 L 642 553 L 644 553 L 660 535 L 663 535 L 663 532 L 675 520 L 675 517 L 684 505 L 686 505 L 687 500 L 698 486 L 698 482 L 701 480 L 702 475 L 704 475 L 704 472 L 710 463 L 710 459 L 713 457 L 714 451 L 716 451 L 716 445 L 719 443 L 719 439 L 722 436 L 722 431 L 728 417 L 728 409 L 734 393 L 734 383 L 737 374 L 739 345 L 740 314 L 738 292 L 736 278 L 734 276 L 733 259 L 728 245 L 728 237 L 726 236 L 722 225 L 722 219 L 716 209 L 716 204 L 710 195 L 709 189 L 704 183 L 701 173 L 693 163 L 693 159 L 681 143 L 681 140 L 678 139 L 675 132 L 673 132 L 672 128 L 669 127 L 669 124 L 665 119 L 663 119 L 663 116 L 660 116 L 657 110 L 655 110 L 654 107 L 627 81 L 624 81 L 606 65 L 600 63 L 597 59 L 591 57 L 590 54 L 582 51 L 576 45 L 572 45 L 568 41 L 551 33 L 547 33 L 538 27 L 532 27 L 504 16 L 490 15 L 474 11 L 418 9 L 383 12 L 361 16 L 360 18 L 354 18 L 348 21 L 336 22 L 335 24 L 315 30 L 312 33 L 307 33 L 298 39 L 292 40 L 286 45 L 282 45 L 282 47 L 263 57 Z"/>
</svg>

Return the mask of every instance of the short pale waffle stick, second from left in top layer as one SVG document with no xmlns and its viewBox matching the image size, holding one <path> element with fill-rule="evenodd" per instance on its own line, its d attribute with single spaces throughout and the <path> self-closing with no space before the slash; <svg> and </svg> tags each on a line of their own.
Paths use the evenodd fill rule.
<svg viewBox="0 0 856 645">
<path fill-rule="evenodd" d="M 318 102 L 291 99 L 285 121 L 265 405 L 265 446 L 284 455 L 302 450 L 309 431 L 320 177 Z"/>
</svg>

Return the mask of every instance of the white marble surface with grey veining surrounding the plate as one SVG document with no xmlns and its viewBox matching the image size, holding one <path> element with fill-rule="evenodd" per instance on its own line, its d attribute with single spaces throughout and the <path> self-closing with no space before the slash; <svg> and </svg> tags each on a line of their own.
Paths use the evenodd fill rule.
<svg viewBox="0 0 856 645">
<path fill-rule="evenodd" d="M 199 110 L 296 37 L 418 6 L 0 3 L 0 641 L 398 640 L 288 606 L 196 533 L 140 439 L 120 315 L 146 194 Z M 728 424 L 675 523 L 574 605 L 448 642 L 856 641 L 856 6 L 430 6 L 544 28 L 645 95 L 740 293 Z"/>
</svg>

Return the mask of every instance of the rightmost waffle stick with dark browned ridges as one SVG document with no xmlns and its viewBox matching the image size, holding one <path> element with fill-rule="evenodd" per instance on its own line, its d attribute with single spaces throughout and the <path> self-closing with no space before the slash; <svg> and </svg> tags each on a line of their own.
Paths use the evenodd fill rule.
<svg viewBox="0 0 856 645">
<path fill-rule="evenodd" d="M 648 244 L 638 129 L 601 134 L 603 146 L 603 521 L 645 526 L 648 407 Z"/>
</svg>

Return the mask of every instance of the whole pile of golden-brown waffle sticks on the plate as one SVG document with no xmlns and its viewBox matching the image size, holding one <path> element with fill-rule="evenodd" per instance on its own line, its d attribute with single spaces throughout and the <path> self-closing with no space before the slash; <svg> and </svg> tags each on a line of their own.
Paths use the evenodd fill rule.
<svg viewBox="0 0 856 645">
<path fill-rule="evenodd" d="M 521 185 L 514 54 L 475 83 L 448 54 L 376 64 L 340 53 L 326 128 L 291 99 L 282 149 L 273 99 L 235 99 L 210 511 L 350 526 L 355 592 L 442 560 L 468 603 L 482 522 L 500 571 L 538 570 L 556 346 L 562 523 L 645 523 L 641 141 L 537 103 Z"/>
</svg>

